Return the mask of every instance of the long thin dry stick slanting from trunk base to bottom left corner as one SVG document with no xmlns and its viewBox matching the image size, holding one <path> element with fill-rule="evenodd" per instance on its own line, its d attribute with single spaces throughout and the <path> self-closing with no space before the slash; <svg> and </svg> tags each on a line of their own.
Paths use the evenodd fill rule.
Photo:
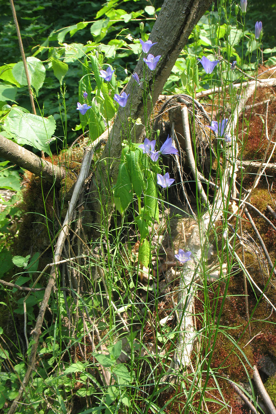
<svg viewBox="0 0 276 414">
<path fill-rule="evenodd" d="M 49 301 L 49 298 L 50 298 L 50 295 L 51 295 L 53 285 L 56 282 L 56 274 L 58 272 L 57 262 L 59 262 L 59 260 L 61 258 L 65 238 L 66 238 L 67 233 L 69 231 L 68 230 L 68 224 L 70 223 L 70 220 L 73 216 L 75 205 L 77 203 L 77 199 L 78 199 L 80 190 L 82 188 L 83 182 L 84 182 L 85 178 L 87 177 L 87 172 L 89 171 L 89 166 L 91 164 L 92 155 L 93 155 L 93 149 L 91 147 L 88 148 L 88 149 L 86 148 L 85 149 L 85 154 L 84 154 L 83 159 L 82 159 L 82 165 L 81 165 L 81 168 L 80 168 L 80 173 L 79 173 L 79 176 L 78 176 L 77 181 L 75 183 L 75 187 L 74 187 L 73 195 L 72 195 L 72 198 L 71 198 L 71 201 L 70 201 L 70 205 L 68 207 L 68 211 L 66 213 L 66 217 L 65 217 L 65 220 L 63 222 L 63 227 L 62 227 L 62 230 L 61 230 L 61 232 L 58 236 L 58 241 L 57 241 L 57 244 L 56 244 L 55 255 L 54 255 L 54 260 L 53 260 L 54 265 L 51 269 L 51 274 L 50 274 L 50 277 L 49 277 L 48 284 L 46 286 L 43 301 L 42 301 L 40 309 L 39 309 L 39 315 L 38 315 L 37 320 L 36 320 L 36 325 L 34 327 L 34 330 L 32 330 L 32 332 L 31 332 L 31 334 L 33 335 L 33 339 L 34 339 L 34 344 L 31 347 L 31 353 L 30 353 L 30 356 L 29 356 L 29 367 L 28 367 L 28 369 L 26 371 L 26 374 L 24 376 L 24 379 L 22 381 L 22 385 L 19 388 L 18 395 L 15 398 L 15 400 L 12 402 L 12 405 L 9 409 L 8 414 L 13 414 L 16 411 L 17 406 L 18 406 L 18 402 L 21 400 L 24 388 L 27 387 L 27 384 L 29 382 L 29 378 L 31 376 L 31 373 L 34 370 L 34 365 L 35 365 L 35 360 L 36 360 L 36 350 L 37 350 L 37 347 L 38 347 L 38 341 L 39 341 L 39 336 L 40 336 L 40 332 L 41 332 L 41 326 L 42 326 L 42 323 L 43 323 L 46 308 L 48 306 L 48 301 Z"/>
</svg>

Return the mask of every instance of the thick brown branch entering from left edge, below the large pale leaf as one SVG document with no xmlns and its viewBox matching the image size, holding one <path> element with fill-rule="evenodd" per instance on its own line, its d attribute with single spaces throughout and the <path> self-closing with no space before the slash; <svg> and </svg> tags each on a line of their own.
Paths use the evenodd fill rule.
<svg viewBox="0 0 276 414">
<path fill-rule="evenodd" d="M 16 142 L 3 137 L 3 135 L 0 135 L 0 156 L 34 173 L 36 176 L 41 176 L 50 183 L 55 181 L 55 184 L 59 186 L 66 174 L 63 168 L 40 158 Z"/>
</svg>

